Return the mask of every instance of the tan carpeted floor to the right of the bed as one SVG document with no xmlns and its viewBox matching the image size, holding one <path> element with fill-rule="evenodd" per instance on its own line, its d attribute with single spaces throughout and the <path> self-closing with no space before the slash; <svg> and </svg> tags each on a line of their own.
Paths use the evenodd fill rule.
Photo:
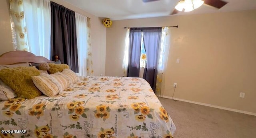
<svg viewBox="0 0 256 138">
<path fill-rule="evenodd" d="M 174 138 L 256 138 L 256 116 L 159 99 L 176 125 Z"/>
</svg>

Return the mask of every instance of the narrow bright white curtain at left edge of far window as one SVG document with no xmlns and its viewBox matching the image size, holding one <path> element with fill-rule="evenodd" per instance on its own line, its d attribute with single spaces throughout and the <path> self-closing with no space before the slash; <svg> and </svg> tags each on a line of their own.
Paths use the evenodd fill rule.
<svg viewBox="0 0 256 138">
<path fill-rule="evenodd" d="M 129 35 L 130 29 L 126 31 L 125 43 L 124 43 L 124 60 L 122 64 L 123 76 L 127 77 L 127 68 L 128 68 L 128 58 L 129 58 Z"/>
</svg>

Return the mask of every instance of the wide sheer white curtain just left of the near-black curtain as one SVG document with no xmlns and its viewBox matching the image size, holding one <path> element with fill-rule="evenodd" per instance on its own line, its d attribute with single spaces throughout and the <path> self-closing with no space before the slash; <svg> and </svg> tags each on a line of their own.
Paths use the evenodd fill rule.
<svg viewBox="0 0 256 138">
<path fill-rule="evenodd" d="M 50 0 L 23 0 L 30 52 L 50 59 Z"/>
</svg>

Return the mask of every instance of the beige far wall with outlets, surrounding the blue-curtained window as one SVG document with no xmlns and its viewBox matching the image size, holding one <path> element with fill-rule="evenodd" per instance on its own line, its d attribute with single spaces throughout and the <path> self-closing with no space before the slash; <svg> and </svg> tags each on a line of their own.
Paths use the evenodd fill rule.
<svg viewBox="0 0 256 138">
<path fill-rule="evenodd" d="M 106 76 L 122 76 L 124 27 L 171 28 L 165 96 L 256 113 L 256 10 L 113 21 Z M 180 58 L 180 63 L 176 63 Z M 245 92 L 245 98 L 240 98 Z"/>
</svg>

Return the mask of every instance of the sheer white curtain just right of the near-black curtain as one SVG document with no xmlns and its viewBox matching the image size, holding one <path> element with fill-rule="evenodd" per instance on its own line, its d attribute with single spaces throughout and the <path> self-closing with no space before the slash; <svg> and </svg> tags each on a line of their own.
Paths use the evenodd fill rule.
<svg viewBox="0 0 256 138">
<path fill-rule="evenodd" d="M 87 47 L 88 47 L 88 28 L 87 17 L 75 13 L 76 16 L 76 36 L 77 36 L 77 50 L 78 50 L 78 75 L 87 76 Z"/>
</svg>

